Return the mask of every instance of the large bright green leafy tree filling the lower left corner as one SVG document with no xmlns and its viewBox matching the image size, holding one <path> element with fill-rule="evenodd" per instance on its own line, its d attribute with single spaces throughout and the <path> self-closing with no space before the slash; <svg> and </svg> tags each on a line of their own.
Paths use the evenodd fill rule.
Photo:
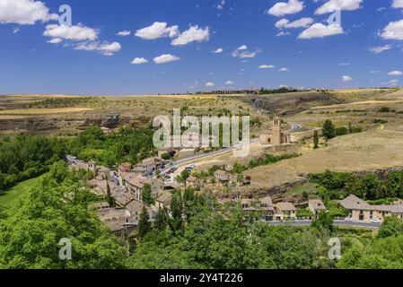
<svg viewBox="0 0 403 287">
<path fill-rule="evenodd" d="M 90 194 L 81 188 L 80 178 L 72 173 L 60 182 L 57 180 L 62 179 L 53 178 L 51 173 L 44 175 L 0 220 L 0 266 L 10 269 L 124 267 L 125 249 L 89 208 Z M 60 239 L 71 240 L 72 260 L 59 258 Z"/>
</svg>

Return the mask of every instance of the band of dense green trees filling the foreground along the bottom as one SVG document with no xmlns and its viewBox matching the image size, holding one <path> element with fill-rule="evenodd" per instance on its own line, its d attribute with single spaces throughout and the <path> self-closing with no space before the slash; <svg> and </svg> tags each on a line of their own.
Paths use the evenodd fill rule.
<svg viewBox="0 0 403 287">
<path fill-rule="evenodd" d="M 377 235 L 334 228 L 327 213 L 310 228 L 245 224 L 240 205 L 191 189 L 174 193 L 172 218 L 160 210 L 152 224 L 144 212 L 136 239 L 117 239 L 95 215 L 83 178 L 56 162 L 0 213 L 0 268 L 403 268 L 403 223 L 395 217 Z M 338 262 L 328 257 L 333 237 L 342 240 Z M 58 258 L 63 238 L 72 240 L 73 260 Z"/>
</svg>

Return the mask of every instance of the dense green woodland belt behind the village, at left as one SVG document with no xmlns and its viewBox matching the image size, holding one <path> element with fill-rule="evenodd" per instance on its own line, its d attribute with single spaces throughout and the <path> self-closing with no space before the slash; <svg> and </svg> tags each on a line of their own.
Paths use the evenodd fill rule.
<svg viewBox="0 0 403 287">
<path fill-rule="evenodd" d="M 100 127 L 91 126 L 74 137 L 0 138 L 0 193 L 17 182 L 47 172 L 54 162 L 65 160 L 66 154 L 110 167 L 124 161 L 137 163 L 155 152 L 151 128 L 125 127 L 105 135 Z"/>
</svg>

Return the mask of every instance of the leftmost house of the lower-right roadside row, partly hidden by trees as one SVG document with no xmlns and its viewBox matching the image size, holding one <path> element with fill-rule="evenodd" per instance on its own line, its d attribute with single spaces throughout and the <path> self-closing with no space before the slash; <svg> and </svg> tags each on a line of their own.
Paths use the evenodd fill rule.
<svg viewBox="0 0 403 287">
<path fill-rule="evenodd" d="M 255 221 L 264 220 L 266 222 L 273 221 L 273 215 L 275 209 L 273 207 L 271 197 L 263 198 L 241 198 L 241 206 L 246 217 L 254 217 Z M 259 214 L 260 213 L 260 214 Z M 261 218 L 256 218 L 255 216 L 262 216 Z"/>
</svg>

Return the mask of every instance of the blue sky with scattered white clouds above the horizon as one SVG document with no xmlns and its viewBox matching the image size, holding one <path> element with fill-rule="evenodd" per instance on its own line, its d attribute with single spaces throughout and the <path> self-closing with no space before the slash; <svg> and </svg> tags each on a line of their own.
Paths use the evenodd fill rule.
<svg viewBox="0 0 403 287">
<path fill-rule="evenodd" d="M 402 0 L 0 0 L 0 94 L 401 86 L 402 12 Z"/>
</svg>

